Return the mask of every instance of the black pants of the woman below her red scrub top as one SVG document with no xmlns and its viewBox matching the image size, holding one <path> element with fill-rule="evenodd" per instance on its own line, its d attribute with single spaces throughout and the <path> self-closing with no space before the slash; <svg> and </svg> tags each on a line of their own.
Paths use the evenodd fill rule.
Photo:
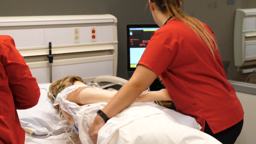
<svg viewBox="0 0 256 144">
<path fill-rule="evenodd" d="M 205 121 L 204 132 L 219 140 L 222 144 L 234 144 L 236 142 L 237 137 L 240 135 L 242 131 L 243 125 L 244 120 L 240 121 L 239 123 L 235 124 L 234 126 L 231 126 L 230 128 L 222 132 L 213 134 L 209 125 Z"/>
</svg>

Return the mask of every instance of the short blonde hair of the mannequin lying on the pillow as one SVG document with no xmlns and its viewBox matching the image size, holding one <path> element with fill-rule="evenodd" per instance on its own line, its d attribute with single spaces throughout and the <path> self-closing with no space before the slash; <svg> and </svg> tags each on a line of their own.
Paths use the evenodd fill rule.
<svg viewBox="0 0 256 144">
<path fill-rule="evenodd" d="M 73 85 L 76 81 L 84 82 L 81 77 L 78 76 L 67 76 L 63 77 L 60 80 L 57 80 L 56 82 L 52 83 L 49 91 L 52 93 L 54 97 L 56 97 L 57 93 L 60 91 L 60 89 L 67 87 L 68 85 Z M 64 90 L 64 89 L 63 89 Z M 63 91 L 61 90 L 61 91 Z M 60 92 L 61 92 L 60 91 Z M 60 93 L 59 92 L 59 93 Z M 53 100 L 55 103 L 55 100 L 52 98 L 52 96 L 48 93 L 48 98 Z M 59 110 L 60 106 L 54 106 L 57 110 Z"/>
</svg>

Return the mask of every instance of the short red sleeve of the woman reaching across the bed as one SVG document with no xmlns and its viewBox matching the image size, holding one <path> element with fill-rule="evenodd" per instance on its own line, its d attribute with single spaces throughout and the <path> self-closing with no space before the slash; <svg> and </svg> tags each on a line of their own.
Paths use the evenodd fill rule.
<svg viewBox="0 0 256 144">
<path fill-rule="evenodd" d="M 169 68 L 177 49 L 178 43 L 172 40 L 170 32 L 160 28 L 152 34 L 138 65 L 144 65 L 160 76 Z"/>
</svg>

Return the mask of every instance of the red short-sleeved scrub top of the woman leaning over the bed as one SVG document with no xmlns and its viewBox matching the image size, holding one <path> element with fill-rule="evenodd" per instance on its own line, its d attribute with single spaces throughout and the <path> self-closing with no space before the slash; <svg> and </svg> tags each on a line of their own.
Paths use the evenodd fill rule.
<svg viewBox="0 0 256 144">
<path fill-rule="evenodd" d="M 193 29 L 172 19 L 153 33 L 139 64 L 161 76 L 178 112 L 194 117 L 203 132 L 206 120 L 218 133 L 243 120 L 244 111 L 214 55 Z"/>
</svg>

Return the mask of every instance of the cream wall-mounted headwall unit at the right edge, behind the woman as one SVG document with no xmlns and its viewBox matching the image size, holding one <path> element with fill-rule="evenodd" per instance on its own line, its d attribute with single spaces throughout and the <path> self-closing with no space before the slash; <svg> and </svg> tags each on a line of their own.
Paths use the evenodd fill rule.
<svg viewBox="0 0 256 144">
<path fill-rule="evenodd" d="M 237 9 L 234 31 L 235 66 L 256 64 L 256 9 Z"/>
</svg>

